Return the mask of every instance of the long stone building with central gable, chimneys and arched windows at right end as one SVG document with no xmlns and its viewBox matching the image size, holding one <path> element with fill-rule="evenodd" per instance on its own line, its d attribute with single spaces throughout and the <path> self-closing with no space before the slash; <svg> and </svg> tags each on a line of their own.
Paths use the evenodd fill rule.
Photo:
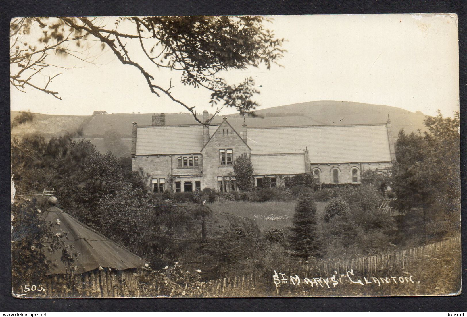
<svg viewBox="0 0 467 317">
<path fill-rule="evenodd" d="M 203 122 L 208 119 L 203 112 Z M 166 125 L 153 115 L 151 126 L 133 123 L 132 166 L 148 175 L 154 192 L 237 190 L 233 163 L 247 153 L 255 186 L 287 186 L 287 176 L 311 174 L 315 183 L 360 183 L 361 172 L 385 170 L 396 160 L 391 123 L 247 127 L 235 131 L 227 118 L 216 126 Z"/>
</svg>

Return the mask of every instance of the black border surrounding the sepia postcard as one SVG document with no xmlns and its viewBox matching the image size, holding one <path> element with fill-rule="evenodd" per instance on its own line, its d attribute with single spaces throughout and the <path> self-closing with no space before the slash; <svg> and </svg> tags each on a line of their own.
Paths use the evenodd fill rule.
<svg viewBox="0 0 467 317">
<path fill-rule="evenodd" d="M 15 16 L 117 16 L 198 14 L 378 14 L 456 13 L 459 16 L 460 115 L 462 205 L 466 205 L 466 4 L 462 0 L 352 1 L 313 0 L 7 0 L 0 10 L 2 40 L 0 70 L 0 311 L 451 311 L 467 310 L 467 297 L 360 297 L 360 298 L 210 298 L 210 299 L 17 299 L 11 295 L 10 252 L 10 98 L 8 30 Z M 464 215 L 464 207 L 462 214 Z M 462 218 L 465 232 L 466 218 Z M 463 237 L 464 238 L 464 237 Z M 462 239 L 462 250 L 466 250 Z M 462 289 L 467 290 L 466 254 L 462 254 Z"/>
</svg>

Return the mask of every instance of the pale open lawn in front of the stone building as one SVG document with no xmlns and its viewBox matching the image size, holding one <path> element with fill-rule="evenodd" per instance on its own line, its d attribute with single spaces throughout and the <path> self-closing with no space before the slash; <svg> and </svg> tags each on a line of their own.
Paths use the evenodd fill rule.
<svg viewBox="0 0 467 317">
<path fill-rule="evenodd" d="M 215 202 L 210 204 L 213 211 L 228 212 L 237 216 L 251 218 L 256 221 L 259 228 L 264 230 L 269 227 L 283 227 L 292 225 L 296 201 L 268 201 L 264 203 L 252 202 Z M 324 211 L 324 202 L 317 202 L 318 217 Z"/>
</svg>

